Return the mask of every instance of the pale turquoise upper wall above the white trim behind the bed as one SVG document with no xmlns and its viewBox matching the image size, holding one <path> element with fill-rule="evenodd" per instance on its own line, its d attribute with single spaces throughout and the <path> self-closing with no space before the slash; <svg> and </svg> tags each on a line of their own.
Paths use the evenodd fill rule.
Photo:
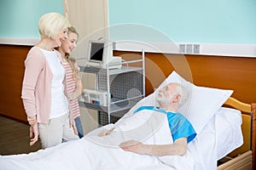
<svg viewBox="0 0 256 170">
<path fill-rule="evenodd" d="M 148 26 L 162 32 L 172 42 L 256 44 L 255 0 L 109 0 L 108 2 L 110 26 L 122 24 Z M 119 36 L 113 32 L 111 36 L 113 40 L 125 37 L 146 42 L 166 41 L 163 38 L 153 37 L 152 32 L 131 37 L 130 32 L 134 31 L 134 29 L 125 30 Z"/>
</svg>

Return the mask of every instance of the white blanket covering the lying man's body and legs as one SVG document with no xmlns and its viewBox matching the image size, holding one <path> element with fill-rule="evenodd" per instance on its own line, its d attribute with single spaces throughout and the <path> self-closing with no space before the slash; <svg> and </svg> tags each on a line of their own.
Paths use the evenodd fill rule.
<svg viewBox="0 0 256 170">
<path fill-rule="evenodd" d="M 111 125 L 108 125 L 111 126 Z M 99 129 L 97 130 L 99 131 Z M 94 132 L 96 133 L 96 131 Z M 166 116 L 162 113 L 140 113 L 126 118 L 108 136 L 93 133 L 83 139 L 60 144 L 38 152 L 16 156 L 1 156 L 0 169 L 172 169 L 156 156 L 137 155 L 119 148 L 128 139 L 147 144 L 172 144 Z M 186 164 L 180 161 L 187 162 Z M 173 169 L 193 169 L 186 156 L 173 156 Z M 178 168 L 177 168 L 178 167 Z"/>
</svg>

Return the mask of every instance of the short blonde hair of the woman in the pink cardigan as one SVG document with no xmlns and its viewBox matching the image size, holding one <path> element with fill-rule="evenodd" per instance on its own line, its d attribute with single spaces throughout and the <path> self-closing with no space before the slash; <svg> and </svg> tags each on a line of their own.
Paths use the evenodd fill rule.
<svg viewBox="0 0 256 170">
<path fill-rule="evenodd" d="M 67 18 L 58 13 L 44 14 L 38 22 L 38 29 L 42 38 L 55 38 L 61 30 L 69 26 L 70 23 Z"/>
</svg>

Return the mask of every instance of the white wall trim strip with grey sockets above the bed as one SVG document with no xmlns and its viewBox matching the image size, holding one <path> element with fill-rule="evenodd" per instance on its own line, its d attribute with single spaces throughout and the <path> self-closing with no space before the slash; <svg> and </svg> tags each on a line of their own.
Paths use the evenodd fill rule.
<svg viewBox="0 0 256 170">
<path fill-rule="evenodd" d="M 185 47 L 184 52 L 182 52 L 180 45 Z M 194 53 L 195 45 L 199 45 L 199 53 Z M 189 47 L 192 48 L 192 51 L 186 50 Z M 256 44 L 119 41 L 115 42 L 114 49 L 119 51 L 142 51 L 142 49 L 144 49 L 145 52 L 149 53 L 218 55 L 256 58 Z"/>
</svg>

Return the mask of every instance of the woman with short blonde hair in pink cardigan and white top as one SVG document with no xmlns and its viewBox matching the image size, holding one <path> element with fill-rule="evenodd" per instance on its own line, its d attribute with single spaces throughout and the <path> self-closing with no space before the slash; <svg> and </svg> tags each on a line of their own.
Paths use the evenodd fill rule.
<svg viewBox="0 0 256 170">
<path fill-rule="evenodd" d="M 30 145 L 41 139 L 42 148 L 79 139 L 69 116 L 65 70 L 55 50 L 67 38 L 68 20 L 61 14 L 44 14 L 38 23 L 41 40 L 28 52 L 21 98 L 31 125 Z"/>
</svg>

